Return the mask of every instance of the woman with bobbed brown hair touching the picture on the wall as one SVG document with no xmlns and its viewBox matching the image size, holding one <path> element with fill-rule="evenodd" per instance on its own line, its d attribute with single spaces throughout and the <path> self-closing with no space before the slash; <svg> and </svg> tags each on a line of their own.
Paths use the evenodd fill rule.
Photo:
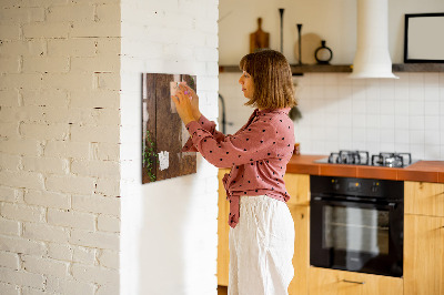
<svg viewBox="0 0 444 295">
<path fill-rule="evenodd" d="M 294 223 L 283 176 L 294 149 L 287 115 L 295 105 L 292 74 L 284 55 L 273 50 L 243 57 L 240 69 L 245 105 L 256 109 L 234 135 L 215 131 L 189 87 L 182 84 L 172 99 L 191 135 L 183 151 L 199 151 L 218 167 L 231 166 L 223 179 L 232 227 L 229 294 L 287 294 Z"/>
</svg>

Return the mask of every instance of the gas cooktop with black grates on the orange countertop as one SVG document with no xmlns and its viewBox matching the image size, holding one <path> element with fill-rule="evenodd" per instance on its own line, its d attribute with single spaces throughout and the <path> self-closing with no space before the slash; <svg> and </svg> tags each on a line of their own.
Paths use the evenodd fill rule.
<svg viewBox="0 0 444 295">
<path fill-rule="evenodd" d="M 331 153 L 329 157 L 314 161 L 316 163 L 350 164 L 385 167 L 406 167 L 416 161 L 412 161 L 411 153 L 379 153 L 370 156 L 367 151 L 341 150 Z"/>
</svg>

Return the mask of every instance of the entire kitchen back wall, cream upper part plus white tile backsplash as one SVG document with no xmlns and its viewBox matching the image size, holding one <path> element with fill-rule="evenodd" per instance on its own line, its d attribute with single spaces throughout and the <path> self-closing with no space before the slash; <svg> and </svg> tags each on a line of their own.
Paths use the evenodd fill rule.
<svg viewBox="0 0 444 295">
<path fill-rule="evenodd" d="M 274 21 L 275 26 L 269 31 L 274 32 L 276 38 L 272 44 L 279 50 L 280 7 L 289 10 L 289 14 L 294 11 L 295 23 L 316 28 L 314 32 L 325 35 L 334 51 L 332 63 L 353 62 L 355 1 L 261 1 L 260 4 L 255 1 L 254 6 L 251 2 L 239 6 L 234 1 L 224 1 L 220 7 L 222 65 L 238 64 L 240 58 L 248 53 L 248 34 L 255 30 L 259 16 L 264 18 L 264 26 L 268 19 Z M 389 6 L 390 51 L 392 60 L 401 63 L 404 13 L 444 11 L 444 2 L 390 0 Z M 252 9 L 246 10 L 248 7 Z M 236 31 L 233 31 L 233 23 L 236 23 Z M 292 23 L 289 26 L 294 27 Z M 268 30 L 266 26 L 264 30 Z M 287 39 L 291 39 L 292 34 L 286 37 L 289 34 Z M 290 62 L 295 62 L 292 53 L 294 44 L 289 42 L 285 45 L 284 38 L 284 54 Z M 296 42 L 296 37 L 293 42 Z M 372 153 L 411 152 L 415 159 L 444 160 L 444 74 L 396 74 L 398 80 L 350 80 L 346 73 L 305 73 L 293 78 L 303 114 L 295 125 L 302 153 L 327 154 L 339 149 L 361 149 Z M 239 75 L 220 74 L 220 93 L 226 101 L 226 121 L 234 123 L 228 126 L 228 133 L 234 133 L 242 126 L 252 111 L 242 105 L 244 98 L 238 84 Z"/>
</svg>

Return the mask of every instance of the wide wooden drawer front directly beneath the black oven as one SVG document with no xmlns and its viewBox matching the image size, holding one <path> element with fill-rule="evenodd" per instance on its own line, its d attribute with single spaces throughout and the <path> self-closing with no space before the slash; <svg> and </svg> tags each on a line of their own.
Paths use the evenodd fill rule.
<svg viewBox="0 0 444 295">
<path fill-rule="evenodd" d="M 402 295 L 403 279 L 310 267 L 310 295 Z"/>
</svg>

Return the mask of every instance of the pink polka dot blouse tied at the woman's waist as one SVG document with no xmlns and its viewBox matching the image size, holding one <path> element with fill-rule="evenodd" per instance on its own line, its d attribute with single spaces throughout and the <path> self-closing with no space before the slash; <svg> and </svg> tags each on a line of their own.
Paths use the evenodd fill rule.
<svg viewBox="0 0 444 295">
<path fill-rule="evenodd" d="M 230 201 L 229 224 L 239 223 L 242 195 L 266 195 L 286 202 L 284 174 L 294 150 L 294 125 L 287 109 L 254 110 L 233 135 L 215 130 L 215 123 L 201 116 L 186 124 L 191 134 L 183 152 L 200 152 L 216 167 L 231 167 L 223 177 Z"/>
</svg>

